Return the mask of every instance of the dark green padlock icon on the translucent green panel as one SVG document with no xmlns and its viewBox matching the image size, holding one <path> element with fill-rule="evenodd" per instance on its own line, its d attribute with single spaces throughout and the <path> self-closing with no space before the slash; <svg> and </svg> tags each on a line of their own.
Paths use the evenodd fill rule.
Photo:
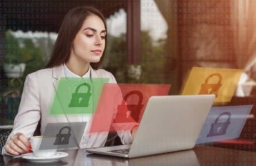
<svg viewBox="0 0 256 166">
<path fill-rule="evenodd" d="M 82 86 L 87 87 L 86 93 L 78 92 Z M 91 98 L 91 86 L 86 83 L 80 84 L 75 89 L 75 93 L 72 94 L 71 102 L 69 103 L 68 107 L 88 107 L 90 98 Z"/>
</svg>

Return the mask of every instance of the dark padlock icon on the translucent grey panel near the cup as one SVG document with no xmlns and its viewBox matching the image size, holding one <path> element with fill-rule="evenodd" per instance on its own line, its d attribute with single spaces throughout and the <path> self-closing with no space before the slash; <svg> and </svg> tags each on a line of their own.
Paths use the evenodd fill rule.
<svg viewBox="0 0 256 166">
<path fill-rule="evenodd" d="M 63 133 L 64 129 L 68 129 L 68 132 Z M 56 140 L 53 145 L 67 145 L 69 143 L 70 137 L 71 137 L 71 128 L 68 126 L 62 127 L 59 133 L 57 133 Z"/>
</svg>

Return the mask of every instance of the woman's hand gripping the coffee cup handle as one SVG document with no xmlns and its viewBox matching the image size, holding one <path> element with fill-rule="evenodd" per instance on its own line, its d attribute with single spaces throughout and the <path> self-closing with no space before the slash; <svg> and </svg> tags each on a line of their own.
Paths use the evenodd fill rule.
<svg viewBox="0 0 256 166">
<path fill-rule="evenodd" d="M 6 142 L 5 150 L 8 154 L 11 155 L 20 155 L 26 154 L 30 150 L 29 139 L 24 136 L 23 133 L 16 133 L 14 136 L 11 136 L 8 142 Z"/>
</svg>

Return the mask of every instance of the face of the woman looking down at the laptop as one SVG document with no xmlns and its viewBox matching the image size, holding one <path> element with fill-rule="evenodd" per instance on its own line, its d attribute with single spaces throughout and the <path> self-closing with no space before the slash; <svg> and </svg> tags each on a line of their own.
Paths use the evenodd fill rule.
<svg viewBox="0 0 256 166">
<path fill-rule="evenodd" d="M 107 35 L 104 23 L 100 17 L 86 17 L 82 28 L 75 35 L 71 48 L 71 56 L 78 57 L 83 62 L 99 62 L 105 48 Z"/>
</svg>

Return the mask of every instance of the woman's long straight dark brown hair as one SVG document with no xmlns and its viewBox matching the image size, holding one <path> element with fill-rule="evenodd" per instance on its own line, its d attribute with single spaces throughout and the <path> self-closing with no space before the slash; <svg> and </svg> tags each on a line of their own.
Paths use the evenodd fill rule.
<svg viewBox="0 0 256 166">
<path fill-rule="evenodd" d="M 46 65 L 46 68 L 59 66 L 60 64 L 68 60 L 71 53 L 71 45 L 73 43 L 73 40 L 75 39 L 75 35 L 82 27 L 82 24 L 84 23 L 86 17 L 89 17 L 90 15 L 97 15 L 98 17 L 100 17 L 100 19 L 102 19 L 104 23 L 105 29 L 107 30 L 105 18 L 102 13 L 96 8 L 93 8 L 91 6 L 82 6 L 69 10 L 62 21 L 62 26 L 60 26 L 57 40 L 53 47 L 53 52 L 51 54 L 51 58 L 48 64 Z M 107 36 L 105 38 L 105 42 L 106 48 Z M 106 49 L 104 49 L 103 51 L 100 62 L 91 63 L 91 67 L 93 69 L 98 69 L 102 64 L 105 50 Z"/>
</svg>

